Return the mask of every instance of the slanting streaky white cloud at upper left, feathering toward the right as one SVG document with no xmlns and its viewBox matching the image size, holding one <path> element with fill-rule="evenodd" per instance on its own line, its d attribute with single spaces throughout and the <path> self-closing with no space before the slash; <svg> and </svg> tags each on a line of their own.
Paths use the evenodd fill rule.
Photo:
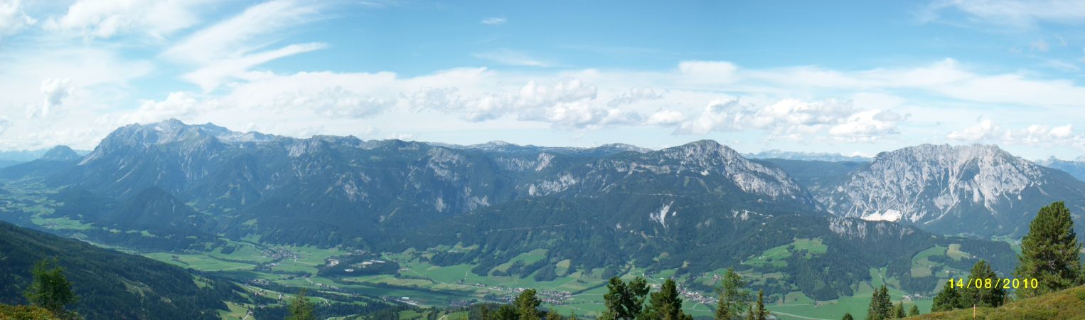
<svg viewBox="0 0 1085 320">
<path fill-rule="evenodd" d="M 231 79 L 253 80 L 260 76 L 250 71 L 254 66 L 327 48 L 324 43 L 310 42 L 264 50 L 277 42 L 282 33 L 320 18 L 320 9 L 317 4 L 292 0 L 256 4 L 194 33 L 163 55 L 195 64 L 197 68 L 183 78 L 206 92 Z"/>
</svg>

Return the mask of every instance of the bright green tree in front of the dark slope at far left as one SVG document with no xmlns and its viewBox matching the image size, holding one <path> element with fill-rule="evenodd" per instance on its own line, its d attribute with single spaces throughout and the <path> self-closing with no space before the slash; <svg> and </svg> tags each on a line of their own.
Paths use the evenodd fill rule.
<svg viewBox="0 0 1085 320">
<path fill-rule="evenodd" d="M 34 277 L 30 286 L 24 295 L 31 305 L 42 307 L 54 315 L 65 318 L 77 318 L 74 312 L 64 310 L 67 305 L 79 299 L 72 290 L 72 282 L 64 277 L 64 268 L 56 266 L 56 258 L 47 258 L 34 265 L 30 271 Z"/>
</svg>

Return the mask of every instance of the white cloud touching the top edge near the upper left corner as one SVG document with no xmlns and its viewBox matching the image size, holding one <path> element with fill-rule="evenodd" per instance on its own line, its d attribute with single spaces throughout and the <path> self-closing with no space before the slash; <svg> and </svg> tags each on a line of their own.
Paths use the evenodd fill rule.
<svg viewBox="0 0 1085 320">
<path fill-rule="evenodd" d="M 76 33 L 87 38 L 112 38 L 140 33 L 164 38 L 200 22 L 196 11 L 207 0 L 78 0 L 46 29 Z"/>
</svg>

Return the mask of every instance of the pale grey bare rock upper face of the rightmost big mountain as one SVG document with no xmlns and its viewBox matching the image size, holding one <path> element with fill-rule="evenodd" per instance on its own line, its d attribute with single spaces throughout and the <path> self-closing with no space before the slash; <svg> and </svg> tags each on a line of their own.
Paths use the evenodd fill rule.
<svg viewBox="0 0 1085 320">
<path fill-rule="evenodd" d="M 966 205 L 993 212 L 1043 181 L 1036 164 L 994 145 L 923 144 L 878 154 L 817 199 L 838 216 L 885 218 L 896 212 L 896 220 L 915 222 Z"/>
</svg>

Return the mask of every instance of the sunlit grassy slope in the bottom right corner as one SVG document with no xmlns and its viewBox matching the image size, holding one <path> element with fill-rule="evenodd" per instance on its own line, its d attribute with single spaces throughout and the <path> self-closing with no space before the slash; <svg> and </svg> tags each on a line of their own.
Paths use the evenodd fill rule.
<svg viewBox="0 0 1085 320">
<path fill-rule="evenodd" d="M 935 312 L 909 319 L 973 319 L 972 309 Z M 975 319 L 1085 319 L 1085 286 L 1017 300 L 998 308 L 978 308 Z"/>
</svg>

